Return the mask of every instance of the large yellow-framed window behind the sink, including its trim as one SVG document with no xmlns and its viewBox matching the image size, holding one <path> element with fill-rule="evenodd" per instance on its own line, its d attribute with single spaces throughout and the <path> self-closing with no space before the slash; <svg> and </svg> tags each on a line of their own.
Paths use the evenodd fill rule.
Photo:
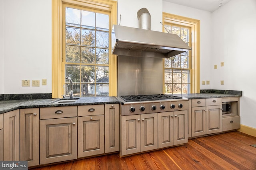
<svg viewBox="0 0 256 170">
<path fill-rule="evenodd" d="M 116 56 L 111 30 L 117 2 L 52 0 L 52 98 L 116 96 Z"/>
</svg>

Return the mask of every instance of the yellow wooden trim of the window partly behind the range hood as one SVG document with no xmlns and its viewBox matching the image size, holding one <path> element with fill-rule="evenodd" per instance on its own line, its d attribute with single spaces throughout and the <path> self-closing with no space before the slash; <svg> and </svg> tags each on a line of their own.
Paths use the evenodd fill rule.
<svg viewBox="0 0 256 170">
<path fill-rule="evenodd" d="M 200 20 L 192 18 L 182 17 L 174 14 L 168 14 L 163 12 L 163 24 L 173 23 L 178 25 L 184 25 L 191 28 L 191 60 L 190 60 L 190 75 L 191 81 L 191 93 L 200 93 Z M 164 27 L 163 27 L 164 31 Z"/>
</svg>

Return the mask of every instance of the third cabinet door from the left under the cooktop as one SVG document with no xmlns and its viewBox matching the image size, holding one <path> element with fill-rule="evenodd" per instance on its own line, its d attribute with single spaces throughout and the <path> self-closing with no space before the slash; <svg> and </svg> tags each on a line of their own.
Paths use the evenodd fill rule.
<svg viewBox="0 0 256 170">
<path fill-rule="evenodd" d="M 158 148 L 173 145 L 173 112 L 158 113 Z"/>
</svg>

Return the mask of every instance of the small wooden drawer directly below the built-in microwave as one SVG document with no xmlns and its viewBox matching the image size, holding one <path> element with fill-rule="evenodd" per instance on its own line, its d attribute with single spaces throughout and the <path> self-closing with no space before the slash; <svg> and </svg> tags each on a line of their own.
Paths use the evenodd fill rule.
<svg viewBox="0 0 256 170">
<path fill-rule="evenodd" d="M 222 118 L 222 131 L 230 131 L 240 128 L 240 116 Z"/>
</svg>

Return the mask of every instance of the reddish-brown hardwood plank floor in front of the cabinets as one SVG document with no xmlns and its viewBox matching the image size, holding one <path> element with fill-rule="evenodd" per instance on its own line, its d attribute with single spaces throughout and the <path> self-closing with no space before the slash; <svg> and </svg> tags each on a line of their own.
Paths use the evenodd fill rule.
<svg viewBox="0 0 256 170">
<path fill-rule="evenodd" d="M 256 137 L 232 131 L 122 158 L 116 153 L 32 170 L 256 170 L 254 144 Z"/>
</svg>

